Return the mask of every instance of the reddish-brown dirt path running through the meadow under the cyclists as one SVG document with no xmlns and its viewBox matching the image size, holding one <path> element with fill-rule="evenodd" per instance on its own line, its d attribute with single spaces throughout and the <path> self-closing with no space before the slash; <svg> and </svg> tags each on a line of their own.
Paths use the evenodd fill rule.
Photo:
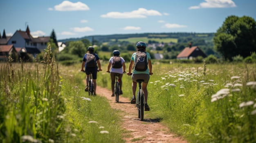
<svg viewBox="0 0 256 143">
<path fill-rule="evenodd" d="M 137 108 L 135 104 L 130 104 L 130 99 L 119 96 L 119 103 L 116 103 L 115 97 L 111 97 L 112 92 L 100 86 L 97 86 L 96 93 L 106 97 L 112 108 L 124 111 L 122 126 L 128 131 L 124 134 L 126 143 L 187 143 L 181 137 L 170 133 L 168 128 L 157 120 L 148 119 L 144 116 L 144 121 L 140 121 Z"/>
</svg>

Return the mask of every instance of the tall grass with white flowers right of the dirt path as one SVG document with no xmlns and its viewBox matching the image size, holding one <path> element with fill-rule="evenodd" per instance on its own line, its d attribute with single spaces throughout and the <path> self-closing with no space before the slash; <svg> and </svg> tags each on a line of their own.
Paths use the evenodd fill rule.
<svg viewBox="0 0 256 143">
<path fill-rule="evenodd" d="M 192 143 L 256 142 L 255 64 L 153 64 L 153 72 L 145 118 Z M 109 83 L 110 75 L 98 80 Z M 131 98 L 131 83 L 124 75 L 122 96 Z"/>
</svg>

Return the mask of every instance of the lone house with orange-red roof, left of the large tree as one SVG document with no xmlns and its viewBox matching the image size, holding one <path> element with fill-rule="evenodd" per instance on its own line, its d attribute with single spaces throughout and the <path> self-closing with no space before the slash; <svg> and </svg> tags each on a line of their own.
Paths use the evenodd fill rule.
<svg viewBox="0 0 256 143">
<path fill-rule="evenodd" d="M 202 56 L 203 58 L 207 57 L 207 55 L 198 46 L 192 46 L 190 43 L 189 47 L 184 48 L 184 50 L 177 55 L 177 59 L 193 59 L 198 56 Z"/>
</svg>

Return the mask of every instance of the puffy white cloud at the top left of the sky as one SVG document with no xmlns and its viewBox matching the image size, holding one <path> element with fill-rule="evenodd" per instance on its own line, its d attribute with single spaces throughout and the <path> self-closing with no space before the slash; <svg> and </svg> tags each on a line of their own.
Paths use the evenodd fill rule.
<svg viewBox="0 0 256 143">
<path fill-rule="evenodd" d="M 73 3 L 68 0 L 64 0 L 61 4 L 55 5 L 54 9 L 56 11 L 86 11 L 90 8 L 82 2 Z"/>
</svg>

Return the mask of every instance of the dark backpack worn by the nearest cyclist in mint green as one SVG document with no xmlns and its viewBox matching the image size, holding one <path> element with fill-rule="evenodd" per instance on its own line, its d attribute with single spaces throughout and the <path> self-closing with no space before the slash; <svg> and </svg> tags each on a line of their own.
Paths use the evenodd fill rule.
<svg viewBox="0 0 256 143">
<path fill-rule="evenodd" d="M 145 71 L 148 68 L 147 54 L 146 52 L 137 51 L 136 58 L 134 60 L 134 68 L 137 71 Z"/>
</svg>

